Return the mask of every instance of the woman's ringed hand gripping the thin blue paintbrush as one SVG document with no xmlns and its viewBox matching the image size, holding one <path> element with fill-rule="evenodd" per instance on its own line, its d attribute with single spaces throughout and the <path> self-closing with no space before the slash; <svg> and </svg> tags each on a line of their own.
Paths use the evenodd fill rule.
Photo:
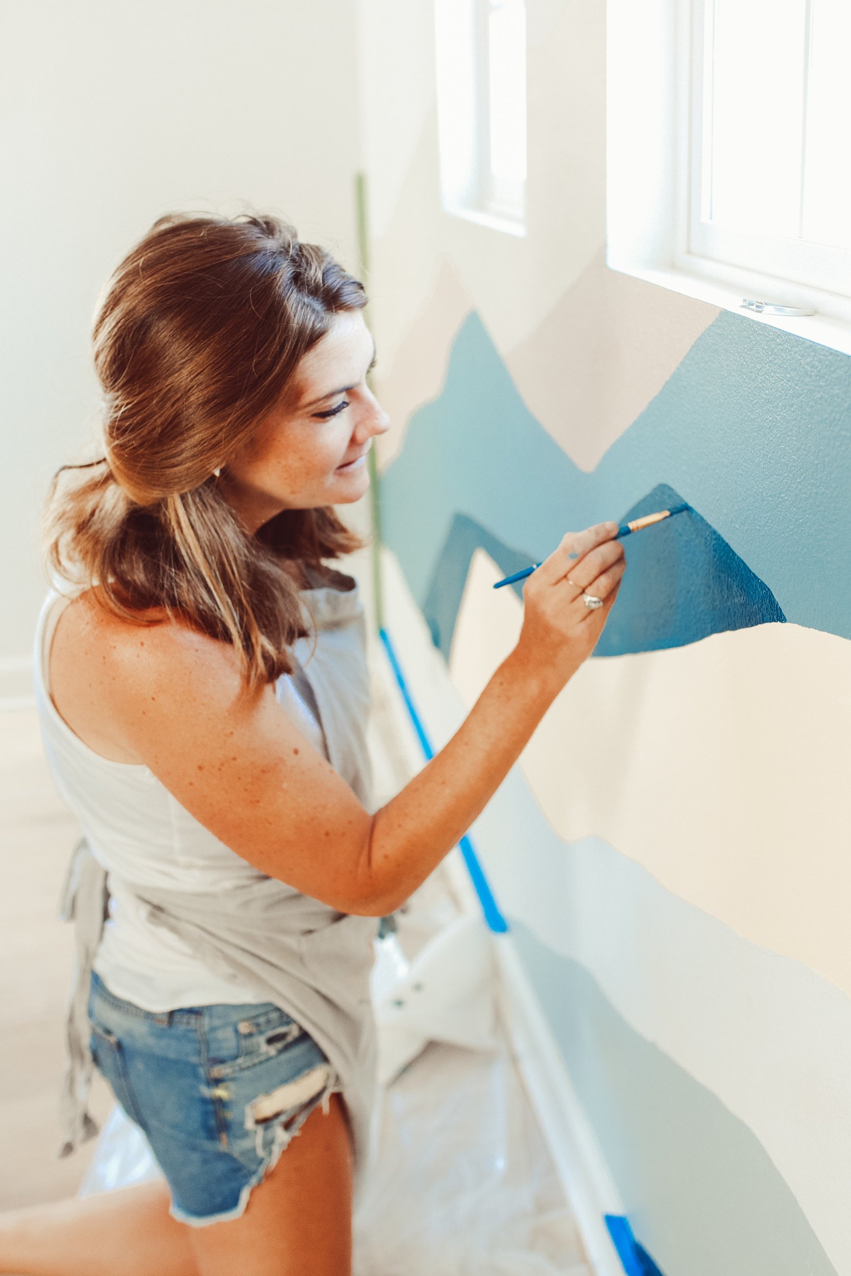
<svg viewBox="0 0 851 1276">
<path fill-rule="evenodd" d="M 618 523 L 568 532 L 523 584 L 526 614 L 517 655 L 529 669 L 546 669 L 563 686 L 593 651 L 618 597 L 626 567 Z M 602 598 L 587 607 L 582 595 Z"/>
</svg>

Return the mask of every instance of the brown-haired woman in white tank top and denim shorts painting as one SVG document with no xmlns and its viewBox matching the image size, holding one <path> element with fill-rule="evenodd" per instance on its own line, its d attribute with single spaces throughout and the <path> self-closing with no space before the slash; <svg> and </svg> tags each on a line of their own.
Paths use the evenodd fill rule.
<svg viewBox="0 0 851 1276">
<path fill-rule="evenodd" d="M 364 495 L 389 427 L 365 301 L 277 219 L 195 216 L 158 221 L 102 299 L 105 459 L 52 493 L 68 586 L 37 690 L 88 845 L 78 1021 L 166 1182 L 6 1216 L 3 1272 L 350 1270 L 375 919 L 482 810 L 618 593 L 616 524 L 566 535 L 467 720 L 371 812 L 362 606 L 323 563 L 361 544 L 332 507 Z M 74 1016 L 70 1037 L 73 1146 Z"/>
</svg>

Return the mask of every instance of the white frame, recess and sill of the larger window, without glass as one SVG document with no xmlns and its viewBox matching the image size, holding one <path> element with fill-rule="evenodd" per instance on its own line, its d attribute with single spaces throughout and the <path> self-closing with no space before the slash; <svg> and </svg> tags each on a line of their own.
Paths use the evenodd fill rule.
<svg viewBox="0 0 851 1276">
<path fill-rule="evenodd" d="M 711 11 L 712 0 L 607 0 L 607 263 L 851 353 L 851 253 L 702 217 Z M 745 297 L 817 313 L 754 314 Z"/>
</svg>

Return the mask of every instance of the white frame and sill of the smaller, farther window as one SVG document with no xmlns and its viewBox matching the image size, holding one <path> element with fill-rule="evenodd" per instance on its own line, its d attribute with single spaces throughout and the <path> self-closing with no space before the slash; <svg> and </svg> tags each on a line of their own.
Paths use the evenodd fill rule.
<svg viewBox="0 0 851 1276">
<path fill-rule="evenodd" d="M 440 193 L 448 213 L 526 235 L 526 182 L 490 163 L 490 0 L 435 0 Z"/>
</svg>

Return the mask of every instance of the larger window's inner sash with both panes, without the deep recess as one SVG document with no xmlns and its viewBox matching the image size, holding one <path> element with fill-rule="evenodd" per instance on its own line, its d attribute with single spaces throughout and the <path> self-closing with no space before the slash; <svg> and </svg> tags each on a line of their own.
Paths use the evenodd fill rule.
<svg viewBox="0 0 851 1276">
<path fill-rule="evenodd" d="M 694 10 L 688 250 L 851 295 L 850 0 Z"/>
</svg>

